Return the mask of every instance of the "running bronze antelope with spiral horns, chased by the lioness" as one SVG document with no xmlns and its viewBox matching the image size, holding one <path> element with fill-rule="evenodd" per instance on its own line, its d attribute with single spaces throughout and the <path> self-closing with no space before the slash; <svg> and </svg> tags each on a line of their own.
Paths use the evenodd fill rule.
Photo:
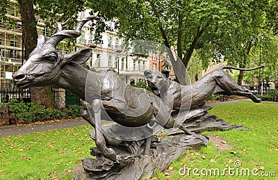
<svg viewBox="0 0 278 180">
<path fill-rule="evenodd" d="M 17 88 L 46 85 L 64 88 L 87 101 L 92 106 L 94 118 L 88 117 L 88 111 L 85 110 L 83 116 L 95 127 L 97 148 L 104 157 L 119 161 L 121 156 L 106 147 L 106 142 L 113 143 L 113 138 L 111 140 L 101 131 L 101 106 L 111 119 L 123 126 L 143 126 L 155 120 L 162 126 L 170 127 L 173 119 L 165 106 L 161 106 L 161 99 L 152 92 L 124 85 L 113 71 L 98 73 L 88 69 L 85 62 L 90 58 L 92 49 L 82 49 L 71 54 L 60 54 L 56 50 L 61 40 L 79 37 L 82 26 L 95 17 L 97 13 L 81 19 L 75 31 L 62 31 L 61 24 L 58 24 L 58 32 L 51 38 L 40 35 L 37 47 L 26 63 L 13 74 L 13 81 Z"/>
</svg>

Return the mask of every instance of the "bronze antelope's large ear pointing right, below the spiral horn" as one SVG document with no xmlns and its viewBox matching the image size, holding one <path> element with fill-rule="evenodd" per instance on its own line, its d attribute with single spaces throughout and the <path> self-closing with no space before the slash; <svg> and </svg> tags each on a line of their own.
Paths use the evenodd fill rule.
<svg viewBox="0 0 278 180">
<path fill-rule="evenodd" d="M 91 55 L 92 49 L 82 49 L 71 54 L 65 54 L 63 63 L 75 63 L 82 65 L 87 62 Z"/>
</svg>

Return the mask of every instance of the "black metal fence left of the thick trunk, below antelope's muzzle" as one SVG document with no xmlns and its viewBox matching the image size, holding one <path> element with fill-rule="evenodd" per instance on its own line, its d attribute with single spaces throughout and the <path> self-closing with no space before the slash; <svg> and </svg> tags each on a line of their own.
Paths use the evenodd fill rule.
<svg viewBox="0 0 278 180">
<path fill-rule="evenodd" d="M 11 99 L 17 99 L 19 101 L 31 102 L 30 90 L 14 89 L 0 89 L 1 103 L 7 103 Z"/>
</svg>

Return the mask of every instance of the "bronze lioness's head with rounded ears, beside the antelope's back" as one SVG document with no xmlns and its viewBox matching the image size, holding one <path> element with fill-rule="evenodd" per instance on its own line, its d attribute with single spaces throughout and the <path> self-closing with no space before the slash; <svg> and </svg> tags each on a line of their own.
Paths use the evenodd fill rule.
<svg viewBox="0 0 278 180">
<path fill-rule="evenodd" d="M 165 74 L 145 70 L 144 75 L 149 83 L 149 88 L 151 88 L 154 94 L 159 95 L 161 92 L 167 91 L 169 82 Z"/>
</svg>

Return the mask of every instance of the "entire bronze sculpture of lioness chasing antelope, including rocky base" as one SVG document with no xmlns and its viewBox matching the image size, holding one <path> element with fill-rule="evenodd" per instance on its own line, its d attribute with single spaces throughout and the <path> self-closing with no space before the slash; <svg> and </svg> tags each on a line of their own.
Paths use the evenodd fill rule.
<svg viewBox="0 0 278 180">
<path fill-rule="evenodd" d="M 40 35 L 37 47 L 32 51 L 26 63 L 13 74 L 13 81 L 18 88 L 52 85 L 69 90 L 74 95 L 87 101 L 91 106 L 91 108 L 81 111 L 82 117 L 95 128 L 94 131 L 90 131 L 90 135 L 97 145 L 97 149 L 92 148 L 92 155 L 97 156 L 97 160 L 85 159 L 83 161 L 83 167 L 88 172 L 88 177 L 111 177 L 113 179 L 113 176 L 117 175 L 117 178 L 120 178 L 124 176 L 124 173 L 131 174 L 131 171 L 133 171 L 134 179 L 137 179 L 144 174 L 145 167 L 149 163 L 154 164 L 153 172 L 162 170 L 169 165 L 168 161 L 173 161 L 174 158 L 179 156 L 179 153 L 184 152 L 184 149 L 188 149 L 190 145 L 206 145 L 206 138 L 194 133 L 200 131 L 200 129 L 179 123 L 179 126 L 177 126 L 179 128 L 178 131 L 176 131 L 177 129 L 174 131 L 171 128 L 174 126 L 175 121 L 180 122 L 182 120 L 183 122 L 187 120 L 187 122 L 190 122 L 199 117 L 206 117 L 208 108 L 195 107 L 202 104 L 214 92 L 229 92 L 250 97 L 257 102 L 260 101 L 251 92 L 234 84 L 231 85 L 237 88 L 237 92 L 230 90 L 229 88 L 231 87 L 228 86 L 224 88 L 225 83 L 229 81 L 221 82 L 223 84 L 219 85 L 219 82 L 215 79 L 216 77 L 230 80 L 229 76 L 223 76 L 220 72 L 213 72 L 213 75 L 211 75 L 213 77 L 198 81 L 195 84 L 195 89 L 198 89 L 199 85 L 209 83 L 211 89 L 206 89 L 202 93 L 198 91 L 193 97 L 191 97 L 191 92 L 188 95 L 180 93 L 176 98 L 173 94 L 177 95 L 176 92 L 180 90 L 181 92 L 186 92 L 184 90 L 187 88 L 181 88 L 181 86 L 167 81 L 161 73 L 145 72 L 147 80 L 154 85 L 153 87 L 151 85 L 154 90 L 153 93 L 142 88 L 125 85 L 117 74 L 111 70 L 95 72 L 93 69 L 89 69 L 85 62 L 91 56 L 91 49 L 83 49 L 71 54 L 60 54 L 56 50 L 56 45 L 61 40 L 79 37 L 82 26 L 95 17 L 97 17 L 97 14 L 84 17 L 77 24 L 74 31 L 63 31 L 62 24 L 58 24 L 58 32 L 52 35 L 51 38 L 47 39 Z M 153 78 L 154 76 L 155 78 Z M 155 82 L 158 79 L 160 79 L 159 82 L 161 83 Z M 174 84 L 174 86 L 171 86 L 171 90 L 169 89 L 170 84 Z M 158 97 L 158 94 L 161 97 Z M 192 105 L 191 99 L 193 99 Z M 102 107 L 117 124 L 101 127 Z M 172 114 L 172 109 L 177 108 L 181 111 L 181 116 L 179 117 Z M 211 120 L 209 118 L 207 122 Z M 207 122 L 205 123 L 206 128 Z M 219 123 L 213 124 L 213 127 L 208 126 L 208 129 L 214 129 L 215 126 L 218 128 L 218 125 Z M 139 131 L 131 129 L 129 131 L 124 129 L 123 126 L 133 128 L 142 126 L 142 129 Z M 221 126 L 222 129 L 233 128 L 229 124 L 223 125 L 223 122 Z M 161 133 L 159 131 L 162 127 L 170 129 L 167 133 L 163 130 L 167 135 L 183 135 L 173 139 L 167 138 L 167 140 L 153 138 L 154 134 Z M 188 127 L 191 131 L 187 129 Z M 131 140 L 118 138 L 117 136 L 120 133 L 125 133 Z M 146 133 L 147 135 L 142 136 L 142 138 L 133 138 L 134 133 Z M 185 136 L 185 134 L 189 136 Z M 145 139 L 147 140 L 145 141 Z M 171 143 L 173 142 L 174 145 L 168 140 Z M 149 149 L 152 142 L 156 143 L 155 148 Z M 163 155 L 165 152 L 163 151 L 165 151 L 165 147 L 171 146 L 176 146 L 174 148 L 175 153 L 169 151 L 167 152 L 168 157 L 165 158 L 165 154 Z M 144 154 L 149 153 L 151 156 L 144 156 Z M 126 170 L 124 168 L 126 166 L 130 167 L 126 172 L 123 172 Z M 148 173 L 152 174 L 153 172 Z M 129 178 L 133 179 L 133 177 Z"/>
</svg>

